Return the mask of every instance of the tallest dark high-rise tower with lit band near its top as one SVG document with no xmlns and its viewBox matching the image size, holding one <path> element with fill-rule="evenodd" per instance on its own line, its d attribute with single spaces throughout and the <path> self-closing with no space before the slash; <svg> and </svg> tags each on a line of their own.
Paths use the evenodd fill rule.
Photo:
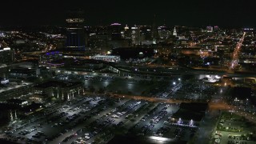
<svg viewBox="0 0 256 144">
<path fill-rule="evenodd" d="M 69 10 L 66 17 L 66 49 L 69 51 L 86 50 L 84 30 L 84 11 Z"/>
</svg>

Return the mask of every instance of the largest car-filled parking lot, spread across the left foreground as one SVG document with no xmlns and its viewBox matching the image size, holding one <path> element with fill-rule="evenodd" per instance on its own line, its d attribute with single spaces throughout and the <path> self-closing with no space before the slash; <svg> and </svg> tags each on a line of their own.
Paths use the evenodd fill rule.
<svg viewBox="0 0 256 144">
<path fill-rule="evenodd" d="M 6 131 L 4 138 L 19 143 L 97 142 L 102 135 L 113 138 L 109 130 L 125 126 L 136 110 L 147 105 L 148 102 L 133 99 L 83 96 L 31 115 L 27 122 Z"/>
</svg>

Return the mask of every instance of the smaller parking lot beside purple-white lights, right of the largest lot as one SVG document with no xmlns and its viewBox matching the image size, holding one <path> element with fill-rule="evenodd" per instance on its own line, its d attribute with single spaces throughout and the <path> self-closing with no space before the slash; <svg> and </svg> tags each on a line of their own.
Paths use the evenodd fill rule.
<svg viewBox="0 0 256 144">
<path fill-rule="evenodd" d="M 157 107 L 146 114 L 140 122 L 130 129 L 130 133 L 143 135 L 146 137 L 155 136 L 170 138 L 173 141 L 188 141 L 190 135 L 197 130 L 196 127 L 189 126 L 189 123 L 182 125 L 171 122 L 172 114 L 178 110 L 177 104 L 159 103 Z"/>
</svg>

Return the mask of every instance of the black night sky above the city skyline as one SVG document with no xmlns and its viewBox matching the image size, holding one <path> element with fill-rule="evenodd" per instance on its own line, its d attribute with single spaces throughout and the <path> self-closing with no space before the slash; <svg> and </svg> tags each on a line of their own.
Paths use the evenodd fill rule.
<svg viewBox="0 0 256 144">
<path fill-rule="evenodd" d="M 65 25 L 66 11 L 83 9 L 86 25 L 256 26 L 253 0 L 8 0 L 0 26 Z"/>
</svg>

